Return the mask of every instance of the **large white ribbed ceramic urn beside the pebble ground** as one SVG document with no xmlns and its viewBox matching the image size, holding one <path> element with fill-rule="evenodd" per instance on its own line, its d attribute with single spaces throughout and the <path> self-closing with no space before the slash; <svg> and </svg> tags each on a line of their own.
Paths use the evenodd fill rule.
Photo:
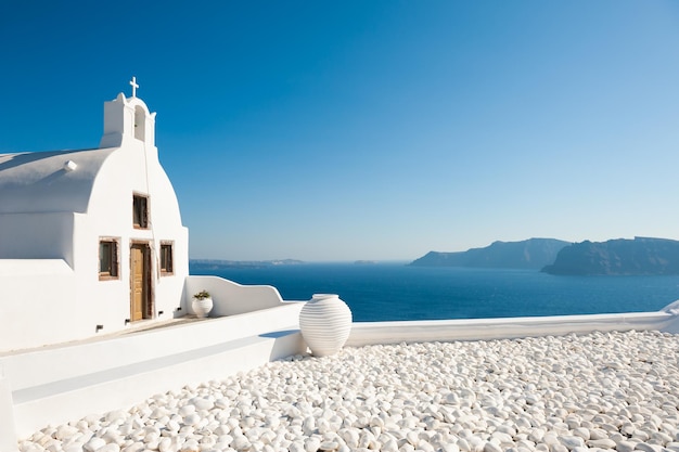
<svg viewBox="0 0 679 452">
<path fill-rule="evenodd" d="M 315 294 L 299 312 L 302 336 L 316 357 L 336 353 L 351 332 L 351 311 L 338 295 Z"/>
</svg>

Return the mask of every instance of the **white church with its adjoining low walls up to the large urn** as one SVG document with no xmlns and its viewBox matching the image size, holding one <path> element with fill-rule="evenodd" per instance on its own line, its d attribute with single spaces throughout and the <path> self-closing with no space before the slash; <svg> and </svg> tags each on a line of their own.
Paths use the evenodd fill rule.
<svg viewBox="0 0 679 452">
<path fill-rule="evenodd" d="M 303 302 L 189 274 L 155 113 L 130 85 L 104 103 L 99 147 L 0 155 L 0 452 L 50 423 L 307 350 Z M 185 322 L 202 290 L 209 318 Z"/>
</svg>

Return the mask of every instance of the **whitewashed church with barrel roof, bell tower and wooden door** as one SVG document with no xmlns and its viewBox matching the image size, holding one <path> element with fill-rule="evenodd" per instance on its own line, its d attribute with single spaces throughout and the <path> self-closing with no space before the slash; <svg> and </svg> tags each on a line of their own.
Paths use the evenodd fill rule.
<svg viewBox="0 0 679 452">
<path fill-rule="evenodd" d="M 130 83 L 99 148 L 0 155 L 0 352 L 187 313 L 188 230 Z"/>
</svg>

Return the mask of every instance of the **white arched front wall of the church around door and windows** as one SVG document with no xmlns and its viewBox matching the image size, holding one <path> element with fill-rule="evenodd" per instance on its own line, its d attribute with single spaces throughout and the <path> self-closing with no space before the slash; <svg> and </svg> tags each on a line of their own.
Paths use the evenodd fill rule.
<svg viewBox="0 0 679 452">
<path fill-rule="evenodd" d="M 149 198 L 149 229 L 132 227 L 133 194 Z M 130 318 L 129 262 L 132 242 L 148 242 L 151 245 L 152 293 L 156 319 L 171 319 L 177 314 L 177 308 L 181 306 L 183 281 L 189 274 L 189 233 L 181 224 L 177 196 L 161 167 L 155 147 L 149 148 L 134 139 L 123 142 L 123 147 L 111 155 L 98 175 L 87 219 L 82 220 L 79 229 L 79 236 L 89 238 L 77 244 L 77 269 L 90 273 L 86 292 L 98 294 L 97 309 L 92 314 L 97 315 L 97 323 L 103 325 L 103 332 L 125 328 L 125 320 Z M 118 280 L 98 279 L 99 236 L 119 238 Z M 159 249 L 163 241 L 172 242 L 174 245 L 172 275 L 159 275 Z M 127 304 L 119 302 L 121 299 L 127 300 Z M 159 314 L 161 311 L 163 314 Z"/>
</svg>

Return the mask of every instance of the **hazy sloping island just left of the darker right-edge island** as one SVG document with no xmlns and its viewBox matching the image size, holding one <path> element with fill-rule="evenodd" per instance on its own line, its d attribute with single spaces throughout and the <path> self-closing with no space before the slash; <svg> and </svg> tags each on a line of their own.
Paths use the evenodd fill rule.
<svg viewBox="0 0 679 452">
<path fill-rule="evenodd" d="M 494 242 L 485 248 L 466 251 L 430 251 L 412 261 L 417 267 L 472 267 L 540 270 L 556 259 L 569 242 L 556 238 L 528 238 L 522 242 Z"/>
</svg>

